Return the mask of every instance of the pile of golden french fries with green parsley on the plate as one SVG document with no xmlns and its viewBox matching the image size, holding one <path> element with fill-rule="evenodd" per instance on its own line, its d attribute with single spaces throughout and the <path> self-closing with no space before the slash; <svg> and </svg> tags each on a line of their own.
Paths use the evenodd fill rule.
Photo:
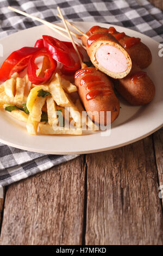
<svg viewBox="0 0 163 256">
<path fill-rule="evenodd" d="M 45 70 L 42 64 L 39 75 Z M 84 125 L 89 130 L 98 130 L 87 115 L 82 115 L 84 109 L 79 98 L 73 102 L 71 93 L 77 90 L 58 73 L 39 86 L 30 83 L 27 75 L 21 78 L 14 73 L 0 86 L 0 107 L 11 117 L 26 122 L 30 135 L 82 135 Z"/>
</svg>

